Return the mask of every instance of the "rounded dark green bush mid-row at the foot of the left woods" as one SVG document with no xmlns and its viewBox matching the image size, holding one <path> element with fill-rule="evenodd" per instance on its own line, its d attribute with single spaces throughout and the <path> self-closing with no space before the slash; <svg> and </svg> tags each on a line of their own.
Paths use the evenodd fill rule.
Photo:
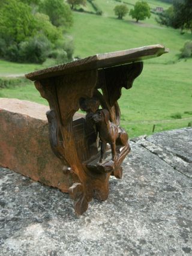
<svg viewBox="0 0 192 256">
<path fill-rule="evenodd" d="M 51 50 L 51 43 L 45 35 L 31 37 L 19 46 L 19 60 L 25 62 L 43 63 Z"/>
</svg>

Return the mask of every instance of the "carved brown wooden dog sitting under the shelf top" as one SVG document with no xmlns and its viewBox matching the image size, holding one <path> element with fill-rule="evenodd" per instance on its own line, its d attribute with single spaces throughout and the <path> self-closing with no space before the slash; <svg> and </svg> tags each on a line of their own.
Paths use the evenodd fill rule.
<svg viewBox="0 0 192 256">
<path fill-rule="evenodd" d="M 125 146 L 128 143 L 128 135 L 124 129 L 116 124 L 110 122 L 109 111 L 107 109 L 98 109 L 92 120 L 96 125 L 98 135 L 101 140 L 101 158 L 100 163 L 103 162 L 103 156 L 106 151 L 106 144 L 109 143 L 112 149 L 112 160 L 116 159 L 116 145 Z"/>
</svg>

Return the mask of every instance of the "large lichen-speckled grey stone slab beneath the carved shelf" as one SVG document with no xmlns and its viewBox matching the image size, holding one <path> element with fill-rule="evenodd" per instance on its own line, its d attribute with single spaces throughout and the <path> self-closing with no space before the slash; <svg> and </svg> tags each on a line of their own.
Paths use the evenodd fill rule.
<svg viewBox="0 0 192 256">
<path fill-rule="evenodd" d="M 2 168 L 0 255 L 191 255 L 191 178 L 139 142 L 131 150 L 108 200 L 80 218 L 67 194 Z"/>
</svg>

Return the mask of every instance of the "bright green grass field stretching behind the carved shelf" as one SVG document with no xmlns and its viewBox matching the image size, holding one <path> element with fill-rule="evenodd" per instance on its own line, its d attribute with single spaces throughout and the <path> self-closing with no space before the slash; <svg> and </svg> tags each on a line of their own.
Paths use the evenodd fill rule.
<svg viewBox="0 0 192 256">
<path fill-rule="evenodd" d="M 132 8 L 136 0 L 124 0 Z M 149 44 L 164 44 L 170 53 L 144 63 L 142 75 L 136 79 L 133 88 L 123 90 L 119 100 L 121 125 L 130 137 L 151 134 L 161 130 L 186 127 L 192 121 L 192 59 L 178 60 L 179 49 L 185 41 L 191 40 L 189 33 L 180 34 L 179 30 L 160 26 L 151 18 L 136 24 L 130 16 L 124 20 L 116 19 L 114 0 L 95 0 L 103 10 L 103 16 L 74 12 L 74 26 L 69 34 L 73 35 L 74 56 L 81 58 L 95 53 L 130 49 Z M 148 0 L 151 8 L 169 5 Z M 87 10 L 92 11 L 88 5 Z M 0 61 L 0 76 L 22 74 L 40 69 L 39 65 L 14 64 Z M 46 103 L 32 83 L 24 87 L 2 89 L 0 97 L 14 97 Z"/>
</svg>

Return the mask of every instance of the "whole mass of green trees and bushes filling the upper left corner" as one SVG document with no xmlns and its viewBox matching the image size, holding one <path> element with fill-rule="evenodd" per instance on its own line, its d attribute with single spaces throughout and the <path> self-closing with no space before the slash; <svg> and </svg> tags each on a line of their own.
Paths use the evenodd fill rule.
<svg viewBox="0 0 192 256">
<path fill-rule="evenodd" d="M 1 0 L 0 58 L 16 62 L 57 64 L 72 59 L 66 31 L 73 24 L 63 0 Z"/>
</svg>

